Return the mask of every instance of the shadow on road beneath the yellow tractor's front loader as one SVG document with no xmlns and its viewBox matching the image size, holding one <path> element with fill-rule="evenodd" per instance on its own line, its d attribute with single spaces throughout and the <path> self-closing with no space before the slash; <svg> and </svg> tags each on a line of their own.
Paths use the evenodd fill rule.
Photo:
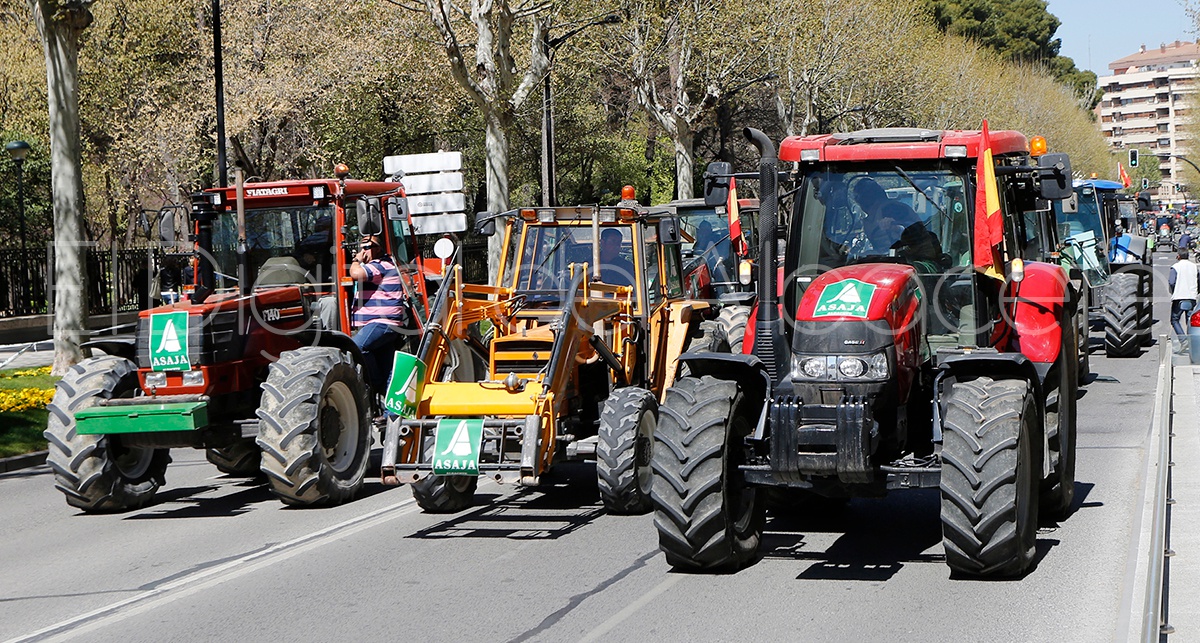
<svg viewBox="0 0 1200 643">
<path fill-rule="evenodd" d="M 604 515 L 595 488 L 595 469 L 559 465 L 541 485 L 504 497 L 475 494 L 480 505 L 407 537 L 481 537 L 556 540 Z"/>
</svg>

